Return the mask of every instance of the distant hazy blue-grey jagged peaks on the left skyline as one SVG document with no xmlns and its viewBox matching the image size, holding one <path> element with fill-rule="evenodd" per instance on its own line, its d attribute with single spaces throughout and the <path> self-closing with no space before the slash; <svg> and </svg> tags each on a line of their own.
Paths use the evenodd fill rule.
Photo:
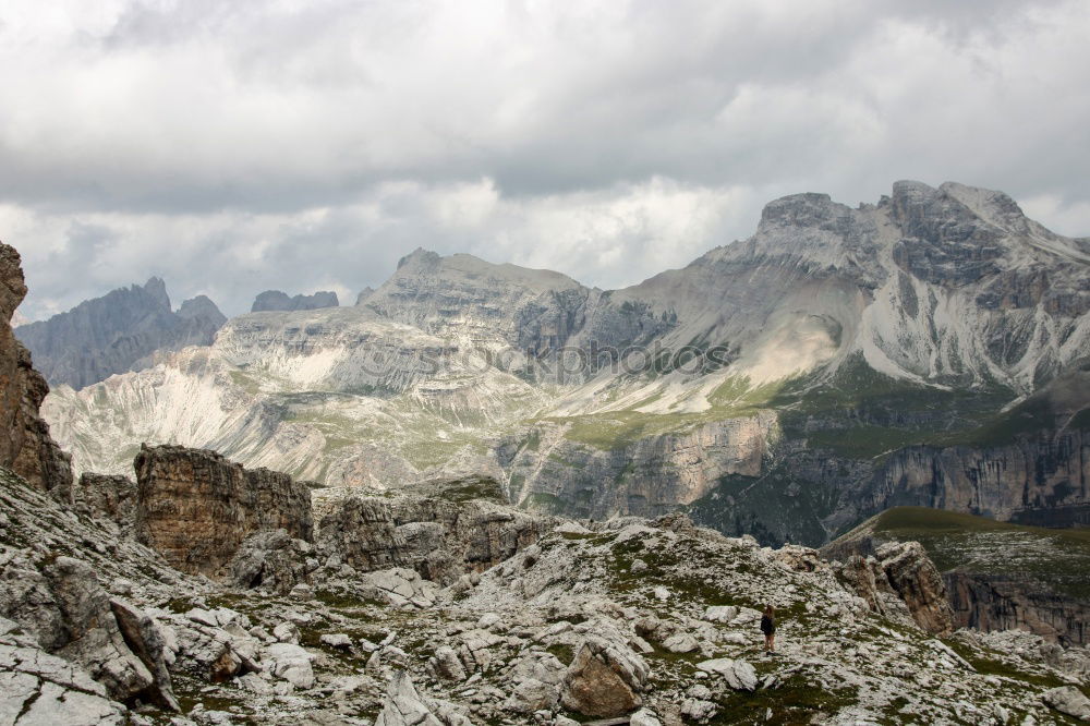
<svg viewBox="0 0 1090 726">
<path fill-rule="evenodd" d="M 73 388 L 147 367 L 160 350 L 207 346 L 227 322 L 204 295 L 175 313 L 164 281 L 119 288 L 48 320 L 20 326 L 16 336 L 34 353 L 46 378 Z"/>
</svg>

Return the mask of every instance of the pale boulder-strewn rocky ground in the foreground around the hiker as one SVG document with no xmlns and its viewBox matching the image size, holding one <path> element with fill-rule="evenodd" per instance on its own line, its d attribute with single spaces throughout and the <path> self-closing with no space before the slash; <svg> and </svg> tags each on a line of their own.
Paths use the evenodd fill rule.
<svg viewBox="0 0 1090 726">
<path fill-rule="evenodd" d="M 242 516 L 261 472 L 232 491 L 209 486 L 237 467 L 210 452 L 141 458 L 135 485 L 85 476 L 72 504 L 0 472 L 2 723 L 1090 718 L 1090 653 L 952 632 L 915 543 L 828 562 L 683 517 L 544 520 L 484 481 L 388 499 L 319 489 L 313 533 L 296 539 Z M 187 496 L 184 471 L 205 477 Z M 137 542 L 171 508 L 256 529 L 237 545 L 194 530 L 194 550 L 230 557 L 190 573 L 181 535 L 165 554 Z M 776 655 L 756 628 L 764 603 L 779 613 Z"/>
</svg>

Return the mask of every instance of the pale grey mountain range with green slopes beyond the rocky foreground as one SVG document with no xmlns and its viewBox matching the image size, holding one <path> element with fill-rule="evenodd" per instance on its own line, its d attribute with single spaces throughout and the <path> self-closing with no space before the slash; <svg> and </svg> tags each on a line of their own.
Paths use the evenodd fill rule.
<svg viewBox="0 0 1090 726">
<path fill-rule="evenodd" d="M 66 315 L 120 319 L 149 286 Z M 766 544 L 898 505 L 1090 523 L 1090 240 L 1000 192 L 787 196 L 621 290 L 417 250 L 354 306 L 277 300 L 300 308 L 96 340 L 94 366 L 58 354 L 74 329 L 16 335 L 61 384 L 43 411 L 77 470 L 129 472 L 149 441 L 330 486 L 480 473 L 524 509 L 683 509 Z"/>
</svg>

